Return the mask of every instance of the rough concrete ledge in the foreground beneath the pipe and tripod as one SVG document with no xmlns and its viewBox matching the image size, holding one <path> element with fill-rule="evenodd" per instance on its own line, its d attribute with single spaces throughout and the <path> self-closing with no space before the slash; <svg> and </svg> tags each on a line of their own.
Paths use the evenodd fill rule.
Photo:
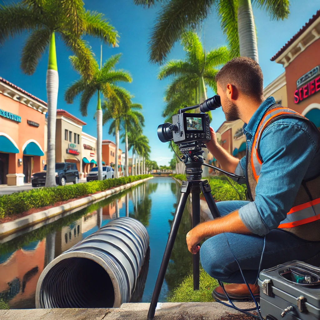
<svg viewBox="0 0 320 320">
<path fill-rule="evenodd" d="M 252 308 L 252 303 L 237 304 Z M 0 310 L 2 320 L 147 320 L 149 303 L 124 303 L 120 308 Z M 252 319 L 217 302 L 158 303 L 154 320 Z"/>
</svg>

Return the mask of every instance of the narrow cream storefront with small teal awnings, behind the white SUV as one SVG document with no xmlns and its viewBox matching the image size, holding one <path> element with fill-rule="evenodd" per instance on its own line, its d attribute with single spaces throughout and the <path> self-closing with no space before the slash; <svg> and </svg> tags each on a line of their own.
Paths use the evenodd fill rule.
<svg viewBox="0 0 320 320">
<path fill-rule="evenodd" d="M 97 138 L 81 132 L 82 178 L 86 177 L 92 167 L 97 165 Z"/>
</svg>

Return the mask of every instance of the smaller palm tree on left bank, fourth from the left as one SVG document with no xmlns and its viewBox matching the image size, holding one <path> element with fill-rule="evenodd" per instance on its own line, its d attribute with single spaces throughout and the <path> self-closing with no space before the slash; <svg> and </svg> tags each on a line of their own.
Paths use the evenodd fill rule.
<svg viewBox="0 0 320 320">
<path fill-rule="evenodd" d="M 142 106 L 139 103 L 130 104 L 124 103 L 124 114 L 122 116 L 122 125 L 124 128 L 124 141 L 125 142 L 125 176 L 129 176 L 129 146 L 128 146 L 128 130 L 129 131 L 142 131 L 141 127 L 144 126 L 144 116 L 138 110 L 141 110 Z M 132 157 L 133 160 L 133 157 Z"/>
</svg>

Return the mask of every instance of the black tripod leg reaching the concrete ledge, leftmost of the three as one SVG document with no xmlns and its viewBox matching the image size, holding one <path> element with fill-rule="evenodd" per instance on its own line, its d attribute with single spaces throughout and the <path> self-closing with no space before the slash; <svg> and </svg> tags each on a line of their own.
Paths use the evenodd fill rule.
<svg viewBox="0 0 320 320">
<path fill-rule="evenodd" d="M 156 280 L 155 289 L 152 294 L 151 303 L 150 303 L 150 307 L 149 307 L 149 311 L 148 311 L 148 319 L 153 319 L 153 317 L 155 316 L 156 305 L 157 305 L 157 302 L 159 299 L 162 284 L 164 282 L 165 272 L 168 267 L 173 244 L 174 244 L 174 241 L 175 241 L 177 233 L 178 233 L 182 214 L 183 214 L 184 208 L 186 206 L 189 193 L 190 193 L 190 188 L 189 188 L 188 182 L 183 181 L 181 189 L 180 189 L 180 199 L 177 204 L 176 212 L 174 213 L 174 218 L 172 220 L 172 225 L 171 225 L 171 230 L 170 230 L 170 233 L 168 236 L 167 245 L 165 246 L 164 255 L 162 258 L 160 270 L 159 270 L 158 277 Z"/>
</svg>

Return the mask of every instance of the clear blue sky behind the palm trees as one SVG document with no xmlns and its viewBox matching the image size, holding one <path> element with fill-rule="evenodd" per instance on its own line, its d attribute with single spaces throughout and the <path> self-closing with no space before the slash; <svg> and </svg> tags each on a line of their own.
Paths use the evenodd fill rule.
<svg viewBox="0 0 320 320">
<path fill-rule="evenodd" d="M 2 2 L 11 3 L 8 0 Z M 150 158 L 156 160 L 158 164 L 168 164 L 172 158 L 172 152 L 167 144 L 160 142 L 156 129 L 158 124 L 163 123 L 164 120 L 161 117 L 164 108 L 163 96 L 169 81 L 157 80 L 159 66 L 151 65 L 148 62 L 148 39 L 160 6 L 143 9 L 135 6 L 132 0 L 87 0 L 84 2 L 87 9 L 104 13 L 119 32 L 119 47 L 112 48 L 104 45 L 102 59 L 105 61 L 113 54 L 123 53 L 117 67 L 128 70 L 133 78 L 131 84 L 123 86 L 135 96 L 133 101 L 143 106 L 146 124 L 144 134 L 150 141 Z M 291 0 L 290 2 L 291 13 L 289 18 L 284 21 L 270 21 L 265 12 L 253 8 L 258 37 L 259 63 L 264 74 L 264 86 L 284 72 L 282 65 L 270 61 L 270 58 L 320 9 L 318 0 Z M 206 50 L 226 44 L 214 11 L 205 20 L 203 29 Z M 20 54 L 26 37 L 27 34 L 16 36 L 0 48 L 0 76 L 46 101 L 45 76 L 48 53 L 46 52 L 43 56 L 34 75 L 24 75 L 20 70 Z M 100 42 L 90 37 L 87 37 L 86 40 L 90 42 L 93 52 L 100 59 Z M 65 109 L 84 120 L 87 125 L 84 126 L 83 131 L 96 136 L 96 122 L 93 120 L 93 114 L 97 99 L 92 98 L 87 117 L 81 116 L 78 100 L 75 100 L 72 105 L 67 105 L 63 100 L 66 87 L 76 80 L 78 75 L 72 70 L 68 61 L 71 52 L 59 39 L 56 40 L 56 44 L 59 72 L 58 108 Z M 182 58 L 184 58 L 184 54 L 180 44 L 177 43 L 170 53 L 169 59 Z M 213 92 L 209 89 L 208 97 L 212 95 Z M 225 120 L 221 108 L 212 112 L 212 118 L 211 126 L 217 129 Z M 114 140 L 113 136 L 108 135 L 108 124 L 103 127 L 103 139 Z M 120 147 L 124 150 L 124 144 L 121 144 Z"/>
</svg>

